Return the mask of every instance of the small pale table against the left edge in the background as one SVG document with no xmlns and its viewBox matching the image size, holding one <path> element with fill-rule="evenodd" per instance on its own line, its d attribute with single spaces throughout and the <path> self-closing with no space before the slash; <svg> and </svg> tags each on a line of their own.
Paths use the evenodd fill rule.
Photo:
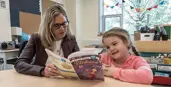
<svg viewBox="0 0 171 87">
<path fill-rule="evenodd" d="M 13 50 L 0 50 L 0 58 L 3 58 L 4 61 L 4 70 L 6 69 L 7 59 L 13 59 L 18 57 L 19 49 Z"/>
</svg>

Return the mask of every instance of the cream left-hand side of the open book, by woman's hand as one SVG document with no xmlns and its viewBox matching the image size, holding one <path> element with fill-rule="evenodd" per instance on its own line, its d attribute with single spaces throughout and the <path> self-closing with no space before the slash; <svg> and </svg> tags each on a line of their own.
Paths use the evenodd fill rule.
<svg viewBox="0 0 171 87">
<path fill-rule="evenodd" d="M 56 55 L 49 49 L 45 49 L 48 54 L 48 59 L 52 64 L 60 71 L 61 76 L 64 78 L 78 79 L 78 75 L 75 72 L 70 60 Z"/>
</svg>

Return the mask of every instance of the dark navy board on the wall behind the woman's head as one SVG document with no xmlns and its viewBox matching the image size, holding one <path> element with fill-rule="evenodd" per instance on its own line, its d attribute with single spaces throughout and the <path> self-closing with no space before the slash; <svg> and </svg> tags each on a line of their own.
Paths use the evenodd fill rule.
<svg viewBox="0 0 171 87">
<path fill-rule="evenodd" d="M 40 15 L 39 0 L 10 0 L 11 26 L 20 27 L 20 12 Z"/>
</svg>

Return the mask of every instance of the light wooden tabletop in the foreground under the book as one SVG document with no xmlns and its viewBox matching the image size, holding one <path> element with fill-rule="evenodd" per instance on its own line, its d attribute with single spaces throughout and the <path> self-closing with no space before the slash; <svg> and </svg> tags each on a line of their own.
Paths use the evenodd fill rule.
<svg viewBox="0 0 171 87">
<path fill-rule="evenodd" d="M 66 80 L 29 76 L 17 73 L 15 70 L 0 71 L 0 87 L 153 87 L 121 82 L 105 77 L 105 81 Z"/>
</svg>

